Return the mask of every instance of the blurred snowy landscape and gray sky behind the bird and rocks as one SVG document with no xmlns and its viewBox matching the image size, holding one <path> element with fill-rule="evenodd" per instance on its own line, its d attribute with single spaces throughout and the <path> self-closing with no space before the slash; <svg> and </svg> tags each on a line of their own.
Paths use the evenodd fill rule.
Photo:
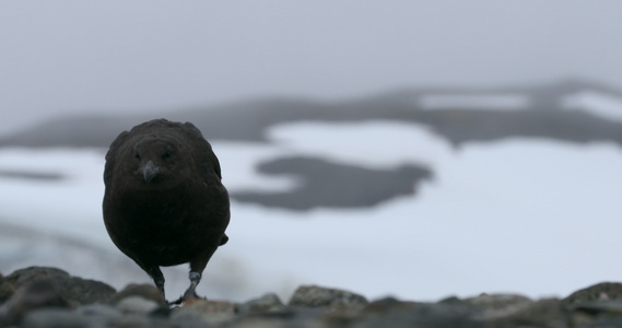
<svg viewBox="0 0 622 328">
<path fill-rule="evenodd" d="M 232 197 L 199 288 L 425 301 L 622 279 L 618 1 L 0 3 L 0 272 L 149 278 L 104 155 L 192 121 Z M 167 294 L 187 286 L 165 270 Z"/>
</svg>

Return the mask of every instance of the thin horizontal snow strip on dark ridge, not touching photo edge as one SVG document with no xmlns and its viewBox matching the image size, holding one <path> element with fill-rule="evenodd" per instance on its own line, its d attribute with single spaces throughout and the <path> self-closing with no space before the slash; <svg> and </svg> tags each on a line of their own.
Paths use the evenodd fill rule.
<svg viewBox="0 0 622 328">
<path fill-rule="evenodd" d="M 423 109 L 524 110 L 531 99 L 523 94 L 430 94 L 419 98 Z"/>
</svg>

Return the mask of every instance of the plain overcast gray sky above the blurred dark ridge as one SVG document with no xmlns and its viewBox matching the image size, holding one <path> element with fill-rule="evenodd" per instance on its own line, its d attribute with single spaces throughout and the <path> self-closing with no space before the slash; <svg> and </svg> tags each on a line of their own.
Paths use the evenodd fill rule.
<svg viewBox="0 0 622 328">
<path fill-rule="evenodd" d="M 583 77 L 622 89 L 622 1 L 1 1 L 0 133 L 60 112 Z"/>
</svg>

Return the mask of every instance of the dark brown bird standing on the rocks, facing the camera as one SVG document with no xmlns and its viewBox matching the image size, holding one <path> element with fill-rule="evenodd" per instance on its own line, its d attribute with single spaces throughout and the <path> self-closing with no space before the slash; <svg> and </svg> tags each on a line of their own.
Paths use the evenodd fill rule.
<svg viewBox="0 0 622 328">
<path fill-rule="evenodd" d="M 121 132 L 104 169 L 104 222 L 117 247 L 164 295 L 160 267 L 190 263 L 197 297 L 208 261 L 228 237 L 228 194 L 210 143 L 190 122 L 154 119 Z"/>
</svg>

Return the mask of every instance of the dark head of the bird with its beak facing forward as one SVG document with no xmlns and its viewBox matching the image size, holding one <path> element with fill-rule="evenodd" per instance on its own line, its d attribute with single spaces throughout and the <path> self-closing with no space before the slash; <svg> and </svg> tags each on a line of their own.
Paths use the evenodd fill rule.
<svg viewBox="0 0 622 328">
<path fill-rule="evenodd" d="M 143 184 L 179 180 L 188 172 L 187 153 L 173 139 L 146 138 L 133 147 L 133 175 Z"/>
</svg>

